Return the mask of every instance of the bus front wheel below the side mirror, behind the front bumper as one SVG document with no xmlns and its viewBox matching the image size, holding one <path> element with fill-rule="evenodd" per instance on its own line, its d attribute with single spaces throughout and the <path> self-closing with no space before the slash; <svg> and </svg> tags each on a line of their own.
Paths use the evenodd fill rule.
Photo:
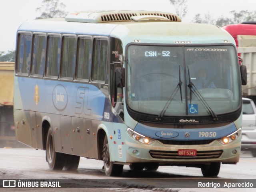
<svg viewBox="0 0 256 192">
<path fill-rule="evenodd" d="M 108 138 L 106 135 L 103 143 L 102 158 L 104 162 L 104 170 L 107 176 L 120 176 L 122 174 L 124 165 L 114 164 L 110 161 Z"/>
</svg>

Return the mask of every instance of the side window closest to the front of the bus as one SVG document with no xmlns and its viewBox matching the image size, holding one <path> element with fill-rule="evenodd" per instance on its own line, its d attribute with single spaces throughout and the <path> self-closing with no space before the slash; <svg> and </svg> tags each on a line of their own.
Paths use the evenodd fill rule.
<svg viewBox="0 0 256 192">
<path fill-rule="evenodd" d="M 105 81 L 108 58 L 108 41 L 103 39 L 94 40 L 92 60 L 92 80 Z"/>
</svg>

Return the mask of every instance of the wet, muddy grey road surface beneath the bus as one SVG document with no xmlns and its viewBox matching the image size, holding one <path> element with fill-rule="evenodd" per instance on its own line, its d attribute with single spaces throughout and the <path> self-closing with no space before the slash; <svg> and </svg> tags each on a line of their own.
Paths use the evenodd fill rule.
<svg viewBox="0 0 256 192">
<path fill-rule="evenodd" d="M 0 180 L 53 180 L 60 181 L 67 188 L 0 188 L 0 191 L 165 191 L 165 192 L 255 192 L 256 158 L 249 152 L 242 152 L 237 165 L 222 164 L 217 178 L 204 178 L 199 168 L 160 166 L 157 171 L 131 171 L 124 166 L 121 177 L 108 177 L 102 169 L 103 162 L 80 158 L 78 170 L 51 171 L 45 160 L 45 151 L 31 148 L 0 148 Z M 65 180 L 64 180 L 65 179 Z M 242 182 L 254 179 L 254 188 L 193 188 L 194 184 L 204 182 Z M 87 188 L 87 187 L 90 188 Z M 70 188 L 72 187 L 72 188 Z M 86 187 L 86 188 L 85 188 Z M 26 189 L 26 190 L 25 190 Z"/>
</svg>

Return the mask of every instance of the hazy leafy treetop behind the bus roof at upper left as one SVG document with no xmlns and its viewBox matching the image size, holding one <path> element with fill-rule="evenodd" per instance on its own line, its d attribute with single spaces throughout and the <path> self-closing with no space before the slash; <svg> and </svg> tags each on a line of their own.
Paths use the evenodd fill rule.
<svg viewBox="0 0 256 192">
<path fill-rule="evenodd" d="M 59 0 L 43 0 L 42 6 L 36 8 L 36 11 L 41 12 L 41 16 L 36 19 L 64 17 L 68 14 L 64 11 L 65 7 L 66 5 L 59 3 Z"/>
</svg>

